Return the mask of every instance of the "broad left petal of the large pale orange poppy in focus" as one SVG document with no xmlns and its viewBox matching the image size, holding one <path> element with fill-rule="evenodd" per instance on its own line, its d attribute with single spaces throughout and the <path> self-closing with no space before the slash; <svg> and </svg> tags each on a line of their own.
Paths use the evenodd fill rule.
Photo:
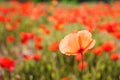
<svg viewBox="0 0 120 80">
<path fill-rule="evenodd" d="M 59 44 L 59 49 L 64 54 L 67 54 L 67 53 L 69 53 L 69 55 L 76 54 L 76 51 L 80 49 L 77 33 L 71 33 L 66 37 L 64 37 L 64 39 L 61 40 Z"/>
</svg>

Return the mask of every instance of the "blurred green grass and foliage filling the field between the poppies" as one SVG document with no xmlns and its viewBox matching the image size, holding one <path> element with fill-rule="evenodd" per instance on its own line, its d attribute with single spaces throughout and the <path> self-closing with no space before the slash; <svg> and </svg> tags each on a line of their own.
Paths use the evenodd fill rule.
<svg viewBox="0 0 120 80">
<path fill-rule="evenodd" d="M 39 0 L 35 1 L 39 2 Z M 63 1 L 68 2 L 69 0 Z M 74 0 L 74 2 L 76 1 L 77 0 Z M 47 12 L 49 11 L 46 11 L 46 13 Z M 27 16 L 22 16 L 19 27 L 13 31 L 6 30 L 6 25 L 0 23 L 0 51 L 2 53 L 0 55 L 12 57 L 12 59 L 16 61 L 15 70 L 10 72 L 12 80 L 61 80 L 63 77 L 68 77 L 69 80 L 81 80 L 81 77 L 83 77 L 83 80 L 119 80 L 120 61 L 111 60 L 109 58 L 109 52 L 102 51 L 101 55 L 95 55 L 91 50 L 85 53 L 84 60 L 87 61 L 88 66 L 83 70 L 82 75 L 82 71 L 78 68 L 79 61 L 75 60 L 75 56 L 66 56 L 61 54 L 59 50 L 50 51 L 48 47 L 52 42 L 60 41 L 65 35 L 71 33 L 73 30 L 86 29 L 81 23 L 69 23 L 63 25 L 65 31 L 55 30 L 52 25 L 53 23 L 48 21 L 48 17 L 51 14 L 40 16 L 38 20 L 32 20 Z M 111 19 L 105 19 L 105 21 L 109 20 Z M 45 24 L 51 31 L 49 35 L 40 32 L 39 28 L 42 24 Z M 21 32 L 30 32 L 37 36 L 42 36 L 43 40 L 41 44 L 43 49 L 36 50 L 33 40 L 29 41 L 27 45 L 23 45 L 20 40 Z M 106 32 L 98 34 L 97 29 L 94 29 L 92 34 L 93 38 L 96 40 L 95 47 L 110 40 L 115 41 L 117 47 L 120 45 L 115 38 Z M 9 43 L 6 40 L 9 35 L 15 37 L 15 42 Z M 25 60 L 23 58 L 24 51 L 28 52 L 28 54 L 32 53 L 31 55 L 39 53 L 42 55 L 42 59 L 38 61 L 33 59 Z M 3 72 L 4 80 L 8 80 L 8 72 L 5 70 L 3 70 Z"/>
</svg>

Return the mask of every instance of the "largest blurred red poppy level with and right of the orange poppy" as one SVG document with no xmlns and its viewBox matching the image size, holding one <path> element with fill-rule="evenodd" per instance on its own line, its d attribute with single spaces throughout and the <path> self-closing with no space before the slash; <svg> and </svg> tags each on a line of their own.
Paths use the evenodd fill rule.
<svg viewBox="0 0 120 80">
<path fill-rule="evenodd" d="M 116 48 L 115 43 L 112 41 L 105 42 L 102 45 L 102 49 L 106 52 L 110 52 L 114 50 L 115 48 Z"/>
</svg>

